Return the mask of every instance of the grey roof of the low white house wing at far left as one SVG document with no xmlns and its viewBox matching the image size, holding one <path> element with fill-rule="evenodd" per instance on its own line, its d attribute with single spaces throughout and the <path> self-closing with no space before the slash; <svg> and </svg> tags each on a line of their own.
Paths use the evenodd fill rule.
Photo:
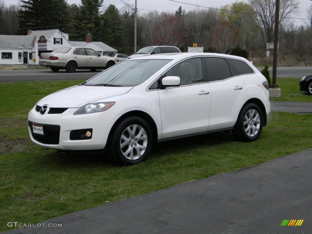
<svg viewBox="0 0 312 234">
<path fill-rule="evenodd" d="M 0 48 L 18 49 L 28 47 L 32 49 L 33 38 L 29 36 L 0 35 Z"/>
</svg>

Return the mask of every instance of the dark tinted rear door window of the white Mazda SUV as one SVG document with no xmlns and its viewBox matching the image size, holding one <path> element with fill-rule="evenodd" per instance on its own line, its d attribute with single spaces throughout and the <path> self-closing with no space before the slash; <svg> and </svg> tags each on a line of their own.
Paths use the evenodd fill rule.
<svg viewBox="0 0 312 234">
<path fill-rule="evenodd" d="M 231 68 L 224 58 L 205 58 L 208 82 L 231 77 Z"/>
</svg>

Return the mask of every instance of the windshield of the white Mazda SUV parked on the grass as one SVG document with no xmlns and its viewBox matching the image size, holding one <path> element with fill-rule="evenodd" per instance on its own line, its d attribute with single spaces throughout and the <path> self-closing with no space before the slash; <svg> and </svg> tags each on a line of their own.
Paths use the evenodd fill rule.
<svg viewBox="0 0 312 234">
<path fill-rule="evenodd" d="M 171 60 L 127 60 L 86 81 L 85 85 L 136 86 L 143 83 Z"/>
</svg>

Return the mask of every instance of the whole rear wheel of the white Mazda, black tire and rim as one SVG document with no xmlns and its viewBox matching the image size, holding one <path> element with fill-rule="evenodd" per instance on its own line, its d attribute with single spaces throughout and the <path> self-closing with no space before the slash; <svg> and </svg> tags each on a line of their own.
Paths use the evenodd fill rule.
<svg viewBox="0 0 312 234">
<path fill-rule="evenodd" d="M 241 109 L 232 133 L 239 141 L 254 141 L 261 135 L 263 115 L 258 105 L 249 103 Z"/>
</svg>

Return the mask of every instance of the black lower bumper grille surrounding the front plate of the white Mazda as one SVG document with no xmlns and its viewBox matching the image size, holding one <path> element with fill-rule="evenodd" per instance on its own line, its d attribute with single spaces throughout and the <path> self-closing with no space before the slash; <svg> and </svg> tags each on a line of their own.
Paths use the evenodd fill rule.
<svg viewBox="0 0 312 234">
<path fill-rule="evenodd" d="M 32 130 L 32 122 L 28 121 L 28 126 Z M 34 134 L 32 131 L 32 137 L 42 143 L 42 144 L 51 144 L 51 145 L 57 145 L 60 142 L 60 125 L 51 125 L 51 124 L 44 124 L 43 125 L 43 132 L 44 136 L 40 136 L 37 134 Z"/>
</svg>

